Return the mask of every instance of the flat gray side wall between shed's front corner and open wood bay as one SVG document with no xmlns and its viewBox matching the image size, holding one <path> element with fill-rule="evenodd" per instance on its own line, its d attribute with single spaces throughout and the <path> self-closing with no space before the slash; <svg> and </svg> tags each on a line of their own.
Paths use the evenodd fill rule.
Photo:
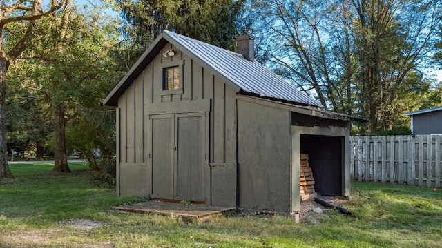
<svg viewBox="0 0 442 248">
<path fill-rule="evenodd" d="M 291 212 L 290 112 L 237 104 L 239 207 Z"/>
</svg>

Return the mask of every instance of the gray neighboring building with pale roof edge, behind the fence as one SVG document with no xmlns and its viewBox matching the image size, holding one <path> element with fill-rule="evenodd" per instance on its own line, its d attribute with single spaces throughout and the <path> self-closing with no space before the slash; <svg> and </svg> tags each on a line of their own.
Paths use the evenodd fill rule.
<svg viewBox="0 0 442 248">
<path fill-rule="evenodd" d="M 442 134 L 442 106 L 408 112 L 405 116 L 411 117 L 413 136 L 419 134 Z"/>
</svg>

